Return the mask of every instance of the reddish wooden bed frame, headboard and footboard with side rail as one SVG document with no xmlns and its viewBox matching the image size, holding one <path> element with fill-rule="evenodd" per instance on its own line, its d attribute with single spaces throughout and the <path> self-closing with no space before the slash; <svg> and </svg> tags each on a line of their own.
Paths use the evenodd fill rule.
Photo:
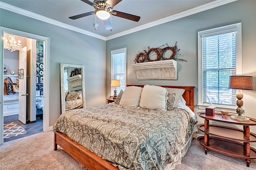
<svg viewBox="0 0 256 170">
<path fill-rule="evenodd" d="M 140 86 L 144 85 L 127 85 L 127 86 Z M 170 88 L 185 89 L 182 97 L 186 100 L 186 105 L 194 111 L 194 87 L 193 86 L 162 86 Z M 86 167 L 88 170 L 118 170 L 114 165 L 108 161 L 94 154 L 84 146 L 75 142 L 65 134 L 60 132 L 54 132 L 54 150 L 57 150 L 57 146 L 60 146 L 78 162 L 81 166 Z"/>
</svg>

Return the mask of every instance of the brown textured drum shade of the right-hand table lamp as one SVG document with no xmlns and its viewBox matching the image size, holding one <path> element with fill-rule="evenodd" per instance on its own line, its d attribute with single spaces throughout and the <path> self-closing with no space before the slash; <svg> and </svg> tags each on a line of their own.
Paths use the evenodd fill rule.
<svg viewBox="0 0 256 170">
<path fill-rule="evenodd" d="M 228 88 L 252 90 L 252 76 L 232 75 L 229 76 Z"/>
</svg>

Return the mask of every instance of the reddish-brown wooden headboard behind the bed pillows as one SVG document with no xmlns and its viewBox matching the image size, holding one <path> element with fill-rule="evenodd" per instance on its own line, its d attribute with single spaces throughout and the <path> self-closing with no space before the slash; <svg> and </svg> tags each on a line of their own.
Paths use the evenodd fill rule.
<svg viewBox="0 0 256 170">
<path fill-rule="evenodd" d="M 126 85 L 126 86 L 139 86 L 144 87 L 144 85 Z M 184 93 L 182 97 L 186 101 L 186 105 L 194 111 L 194 86 L 168 86 L 168 85 L 159 85 L 161 87 L 168 87 L 168 88 L 176 88 L 176 89 L 184 89 Z"/>
</svg>

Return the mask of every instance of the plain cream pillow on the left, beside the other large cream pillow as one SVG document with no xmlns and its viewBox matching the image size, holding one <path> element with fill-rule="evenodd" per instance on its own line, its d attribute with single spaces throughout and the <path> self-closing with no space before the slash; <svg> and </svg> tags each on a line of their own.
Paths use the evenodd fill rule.
<svg viewBox="0 0 256 170">
<path fill-rule="evenodd" d="M 140 94 L 142 88 L 137 86 L 129 86 L 124 89 L 119 105 L 122 107 L 133 107 L 139 106 Z"/>
</svg>

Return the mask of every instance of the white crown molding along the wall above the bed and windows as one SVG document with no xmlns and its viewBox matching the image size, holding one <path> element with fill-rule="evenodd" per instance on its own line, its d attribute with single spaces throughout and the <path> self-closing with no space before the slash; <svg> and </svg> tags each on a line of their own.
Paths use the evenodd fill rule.
<svg viewBox="0 0 256 170">
<path fill-rule="evenodd" d="M 237 0 L 216 0 L 214 2 L 210 2 L 208 4 L 205 4 L 205 5 L 202 5 L 202 6 L 198 6 L 196 8 L 192 8 L 192 9 L 186 10 L 184 12 L 180 12 L 180 13 L 174 14 L 172 16 L 168 16 L 166 18 L 162 18 L 160 20 L 156 20 L 156 21 L 150 22 L 148 24 L 144 24 L 142 26 L 138 26 L 136 28 L 132 28 L 132 29 L 124 31 L 124 32 L 120 32 L 118 34 L 114 34 L 112 36 L 108 36 L 108 37 L 106 37 L 106 40 L 111 40 L 111 39 L 114 39 L 114 38 L 125 36 L 127 34 L 138 32 L 140 30 L 144 30 L 144 29 L 147 29 L 147 28 L 150 28 L 150 27 L 158 26 L 158 25 L 164 24 L 166 22 L 174 21 L 174 20 L 177 20 L 177 19 L 180 19 L 180 18 L 184 18 L 186 16 L 197 14 L 199 12 L 210 10 L 212 8 L 216 8 L 218 6 L 222 6 L 222 5 L 234 2 L 234 1 L 237 1 Z"/>
</svg>

